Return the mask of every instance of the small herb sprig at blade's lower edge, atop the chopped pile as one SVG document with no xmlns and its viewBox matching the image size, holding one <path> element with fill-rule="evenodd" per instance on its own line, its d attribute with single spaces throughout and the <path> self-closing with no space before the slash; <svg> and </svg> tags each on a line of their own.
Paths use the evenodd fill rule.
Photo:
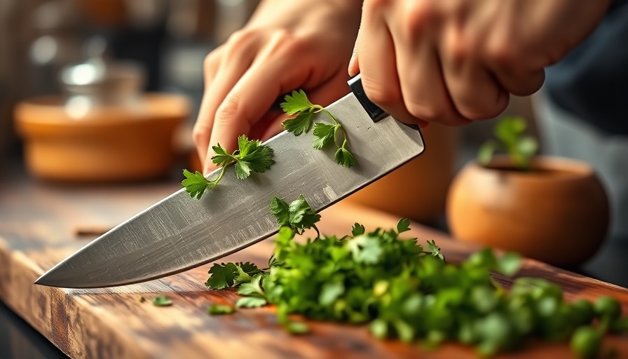
<svg viewBox="0 0 628 359">
<path fill-rule="evenodd" d="M 302 234 L 305 229 L 314 228 L 318 233 L 315 223 L 320 220 L 320 215 L 310 207 L 302 194 L 290 203 L 282 198 L 273 197 L 270 208 L 271 214 L 277 219 L 280 227 L 288 226 L 299 234 Z"/>
</svg>

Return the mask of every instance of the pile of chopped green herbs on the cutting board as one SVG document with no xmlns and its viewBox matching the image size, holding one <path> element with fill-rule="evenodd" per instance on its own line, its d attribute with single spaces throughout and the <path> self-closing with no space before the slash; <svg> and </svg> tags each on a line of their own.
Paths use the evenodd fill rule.
<svg viewBox="0 0 628 359">
<path fill-rule="evenodd" d="M 516 273 L 521 260 L 514 253 L 496 257 L 485 249 L 461 264 L 450 264 L 434 241 L 423 246 L 402 236 L 409 230 L 407 219 L 388 231 L 367 232 L 356 223 L 350 236 L 319 234 L 299 243 L 296 233 L 315 228 L 320 219 L 305 198 L 286 203 L 275 197 L 271 212 L 282 226 L 268 268 L 249 262 L 214 264 L 206 285 L 237 288 L 243 296 L 235 304 L 238 308 L 275 305 L 280 323 L 295 334 L 308 332 L 308 326 L 289 320 L 292 313 L 365 324 L 375 337 L 432 348 L 459 341 L 475 346 L 481 355 L 521 348 L 531 336 L 571 338 L 574 353 L 594 358 L 604 333 L 628 327 L 628 318 L 621 318 L 621 306 L 611 297 L 570 304 L 559 285 L 538 278 L 517 278 L 506 291 L 491 273 Z M 209 310 L 233 311 L 230 306 Z"/>
</svg>

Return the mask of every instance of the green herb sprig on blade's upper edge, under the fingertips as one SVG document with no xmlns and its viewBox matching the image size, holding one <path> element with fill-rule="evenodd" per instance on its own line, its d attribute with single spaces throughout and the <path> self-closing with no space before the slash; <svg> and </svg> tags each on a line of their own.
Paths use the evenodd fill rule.
<svg viewBox="0 0 628 359">
<path fill-rule="evenodd" d="M 235 177 L 246 179 L 251 172 L 264 173 L 275 163 L 273 160 L 274 151 L 266 144 L 261 144 L 259 140 L 249 140 L 245 135 L 238 137 L 238 149 L 229 154 L 220 144 L 212 146 L 214 156 L 212 163 L 221 168 L 220 173 L 214 179 L 207 179 L 202 173 L 196 171 L 183 170 L 186 177 L 181 184 L 192 198 L 200 199 L 205 191 L 210 191 L 224 176 L 228 166 L 234 165 Z"/>
</svg>

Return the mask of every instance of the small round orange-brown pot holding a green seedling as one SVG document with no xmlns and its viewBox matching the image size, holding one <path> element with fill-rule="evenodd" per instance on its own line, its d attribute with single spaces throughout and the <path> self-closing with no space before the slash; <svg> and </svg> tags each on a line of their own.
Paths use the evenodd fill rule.
<svg viewBox="0 0 628 359">
<path fill-rule="evenodd" d="M 514 250 L 557 266 L 578 266 L 606 236 L 608 198 L 594 170 L 579 161 L 538 157 L 515 170 L 505 157 L 472 162 L 449 190 L 449 229 L 460 241 Z"/>
</svg>

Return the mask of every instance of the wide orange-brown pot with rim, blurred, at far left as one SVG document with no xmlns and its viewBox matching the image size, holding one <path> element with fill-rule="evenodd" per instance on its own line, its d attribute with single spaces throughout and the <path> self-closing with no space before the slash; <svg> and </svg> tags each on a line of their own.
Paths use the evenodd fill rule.
<svg viewBox="0 0 628 359">
<path fill-rule="evenodd" d="M 142 97 L 141 110 L 102 107 L 73 118 L 61 97 L 18 104 L 15 124 L 37 177 L 63 182 L 154 179 L 170 171 L 173 135 L 189 116 L 179 95 Z"/>
</svg>

